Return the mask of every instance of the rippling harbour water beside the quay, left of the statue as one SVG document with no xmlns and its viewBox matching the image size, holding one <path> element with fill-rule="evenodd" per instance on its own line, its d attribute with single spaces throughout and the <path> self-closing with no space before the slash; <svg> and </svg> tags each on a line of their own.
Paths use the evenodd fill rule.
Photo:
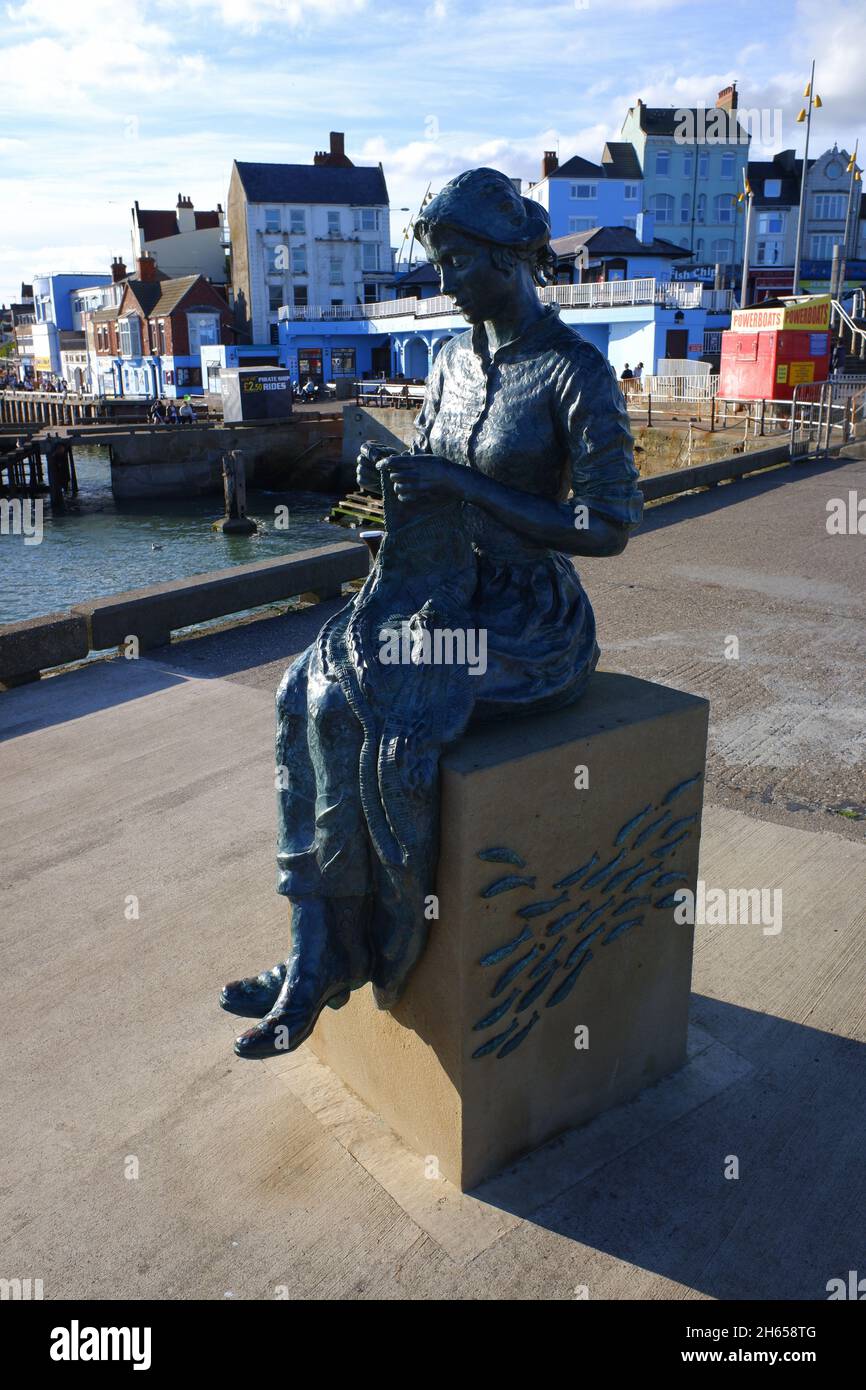
<svg viewBox="0 0 866 1390">
<path fill-rule="evenodd" d="M 44 507 L 40 543 L 0 535 L 0 623 L 342 539 L 339 528 L 324 521 L 332 500 L 324 493 L 249 489 L 246 510 L 260 530 L 228 537 L 211 528 L 222 514 L 217 496 L 117 503 L 107 449 L 76 448 L 75 467 L 78 498 L 64 514 Z M 288 507 L 285 527 L 278 507 Z"/>
</svg>

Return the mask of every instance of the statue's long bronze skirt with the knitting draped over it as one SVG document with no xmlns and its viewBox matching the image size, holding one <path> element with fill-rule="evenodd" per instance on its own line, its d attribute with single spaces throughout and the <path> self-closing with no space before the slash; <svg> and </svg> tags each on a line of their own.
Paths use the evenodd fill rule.
<svg viewBox="0 0 866 1390">
<path fill-rule="evenodd" d="M 430 651 L 436 630 L 474 634 L 474 667 L 385 660 L 382 634 L 403 624 L 427 630 Z M 446 506 L 386 535 L 364 588 L 285 673 L 277 891 L 371 897 L 381 1008 L 399 998 L 434 916 L 442 748 L 470 720 L 571 703 L 598 655 L 592 609 L 566 556 L 493 560 Z"/>
</svg>

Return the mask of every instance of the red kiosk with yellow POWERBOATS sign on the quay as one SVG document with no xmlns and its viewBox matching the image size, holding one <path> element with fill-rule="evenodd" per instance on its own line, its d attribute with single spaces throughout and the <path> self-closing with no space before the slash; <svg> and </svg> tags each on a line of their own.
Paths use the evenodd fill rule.
<svg viewBox="0 0 866 1390">
<path fill-rule="evenodd" d="M 830 374 L 830 295 L 785 296 L 735 309 L 721 335 L 719 396 L 791 400 Z"/>
</svg>

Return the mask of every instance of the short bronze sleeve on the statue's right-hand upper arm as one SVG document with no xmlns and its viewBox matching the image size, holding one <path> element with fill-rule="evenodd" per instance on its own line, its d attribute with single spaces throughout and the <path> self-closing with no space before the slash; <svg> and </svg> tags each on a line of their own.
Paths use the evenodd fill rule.
<svg viewBox="0 0 866 1390">
<path fill-rule="evenodd" d="M 634 441 L 620 384 L 592 343 L 580 343 L 556 384 L 557 430 L 569 457 L 573 502 L 635 527 L 644 496 L 638 488 Z"/>
</svg>

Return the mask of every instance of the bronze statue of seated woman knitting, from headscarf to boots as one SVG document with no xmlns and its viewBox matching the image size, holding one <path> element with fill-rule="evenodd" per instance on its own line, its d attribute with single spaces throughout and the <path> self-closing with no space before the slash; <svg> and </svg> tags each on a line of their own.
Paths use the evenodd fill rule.
<svg viewBox="0 0 866 1390">
<path fill-rule="evenodd" d="M 546 211 L 471 170 L 417 234 L 471 328 L 434 361 L 411 452 L 361 449 L 382 546 L 277 694 L 292 948 L 222 991 L 225 1009 L 260 1019 L 240 1056 L 299 1047 L 367 983 L 379 1008 L 398 1001 L 435 892 L 441 749 L 470 720 L 580 698 L 599 651 L 570 556 L 619 555 L 641 520 L 616 377 L 537 292 L 553 267 Z M 482 637 L 484 660 L 436 660 L 442 634 L 452 651 L 455 635 Z"/>
</svg>

